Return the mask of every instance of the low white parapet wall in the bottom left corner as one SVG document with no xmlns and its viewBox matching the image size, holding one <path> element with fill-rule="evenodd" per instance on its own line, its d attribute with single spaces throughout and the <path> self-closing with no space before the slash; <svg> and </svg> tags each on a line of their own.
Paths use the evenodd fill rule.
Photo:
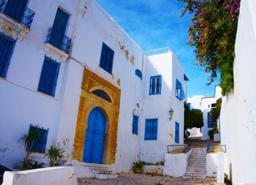
<svg viewBox="0 0 256 185">
<path fill-rule="evenodd" d="M 37 170 L 5 172 L 2 185 L 78 185 L 74 167 L 45 167 Z"/>
</svg>

